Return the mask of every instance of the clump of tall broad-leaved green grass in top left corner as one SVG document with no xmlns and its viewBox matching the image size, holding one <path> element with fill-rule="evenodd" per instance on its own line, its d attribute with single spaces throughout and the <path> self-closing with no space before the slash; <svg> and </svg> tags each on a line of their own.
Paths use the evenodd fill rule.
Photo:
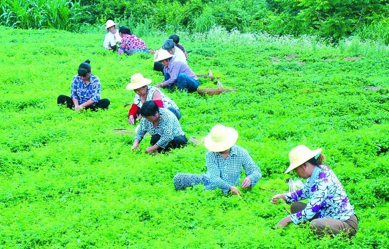
<svg viewBox="0 0 389 249">
<path fill-rule="evenodd" d="M 0 25 L 22 29 L 78 31 L 88 13 L 80 1 L 71 0 L 1 0 L 0 6 Z"/>
</svg>

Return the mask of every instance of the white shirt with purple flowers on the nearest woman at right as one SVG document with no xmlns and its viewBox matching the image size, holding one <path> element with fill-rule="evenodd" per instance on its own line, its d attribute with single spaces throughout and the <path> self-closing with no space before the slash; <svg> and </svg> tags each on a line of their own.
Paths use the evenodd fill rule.
<svg viewBox="0 0 389 249">
<path fill-rule="evenodd" d="M 347 220 L 354 215 L 346 192 L 333 171 L 325 166 L 316 166 L 312 176 L 302 189 L 285 194 L 286 202 L 292 203 L 309 198 L 306 208 L 291 215 L 295 224 L 310 220 L 319 212 L 319 218 Z"/>
</svg>

